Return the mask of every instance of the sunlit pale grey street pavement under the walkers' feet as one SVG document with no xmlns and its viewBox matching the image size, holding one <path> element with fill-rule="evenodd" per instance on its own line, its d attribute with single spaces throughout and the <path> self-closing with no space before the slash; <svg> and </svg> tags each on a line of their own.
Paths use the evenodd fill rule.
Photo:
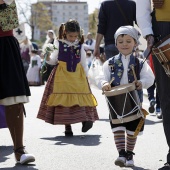
<svg viewBox="0 0 170 170">
<path fill-rule="evenodd" d="M 27 117 L 24 144 L 26 150 L 35 155 L 35 163 L 27 166 L 15 164 L 8 129 L 0 129 L 1 170 L 157 170 L 166 162 L 168 147 L 162 120 L 157 119 L 155 114 L 147 116 L 144 133 L 137 139 L 134 149 L 135 167 L 120 168 L 114 165 L 118 152 L 102 92 L 92 88 L 98 101 L 100 120 L 87 133 L 81 132 L 81 123 L 74 124 L 74 137 L 65 137 L 64 126 L 51 125 L 36 118 L 44 87 L 30 87 L 32 96 L 30 102 L 25 104 Z M 143 107 L 148 109 L 148 106 L 145 93 Z"/>
</svg>

